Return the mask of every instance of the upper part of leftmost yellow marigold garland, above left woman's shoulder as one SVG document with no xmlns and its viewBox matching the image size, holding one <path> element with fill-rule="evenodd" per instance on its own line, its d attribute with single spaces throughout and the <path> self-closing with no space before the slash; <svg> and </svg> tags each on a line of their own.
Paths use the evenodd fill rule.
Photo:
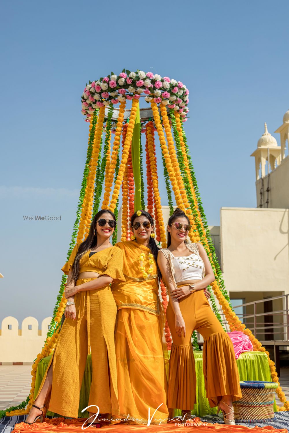
<svg viewBox="0 0 289 433">
<path fill-rule="evenodd" d="M 97 168 L 99 151 L 100 151 L 101 136 L 103 133 L 104 110 L 105 107 L 101 107 L 99 109 L 99 114 L 98 114 L 97 124 L 95 128 L 95 134 L 94 134 L 94 140 L 93 140 L 91 160 L 89 164 L 89 174 L 88 174 L 87 184 L 85 188 L 85 195 L 82 204 L 81 218 L 79 222 L 76 242 L 82 242 L 83 236 L 84 238 L 87 237 L 91 225 L 92 207 L 93 207 L 93 199 L 94 199 L 94 183 L 95 183 L 96 168 Z"/>
</svg>

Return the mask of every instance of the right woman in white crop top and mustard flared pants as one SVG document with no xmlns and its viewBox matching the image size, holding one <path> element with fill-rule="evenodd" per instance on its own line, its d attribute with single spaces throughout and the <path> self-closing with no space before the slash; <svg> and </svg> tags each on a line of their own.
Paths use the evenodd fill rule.
<svg viewBox="0 0 289 433">
<path fill-rule="evenodd" d="M 196 395 L 194 330 L 204 338 L 203 371 L 207 398 L 218 405 L 225 424 L 234 425 L 233 400 L 242 397 L 239 372 L 230 337 L 215 316 L 207 287 L 215 277 L 205 248 L 188 243 L 188 216 L 177 208 L 168 223 L 168 248 L 158 254 L 158 265 L 169 292 L 167 321 L 172 334 L 169 360 L 168 407 L 182 409 L 190 419 Z"/>
</svg>

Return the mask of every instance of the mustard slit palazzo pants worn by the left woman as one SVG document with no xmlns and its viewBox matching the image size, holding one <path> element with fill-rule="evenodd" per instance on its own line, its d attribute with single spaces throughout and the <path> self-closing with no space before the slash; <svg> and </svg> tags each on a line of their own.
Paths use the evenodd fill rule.
<svg viewBox="0 0 289 433">
<path fill-rule="evenodd" d="M 76 285 L 93 279 L 80 279 Z M 114 348 L 117 307 L 110 286 L 78 292 L 75 294 L 75 307 L 76 320 L 65 318 L 46 370 L 48 372 L 52 364 L 52 390 L 48 409 L 65 417 L 78 417 L 80 388 L 90 346 L 92 381 L 88 405 L 98 406 L 100 413 L 118 415 Z M 46 373 L 39 391 L 45 378 Z M 97 413 L 97 407 L 91 407 L 88 411 Z"/>
</svg>

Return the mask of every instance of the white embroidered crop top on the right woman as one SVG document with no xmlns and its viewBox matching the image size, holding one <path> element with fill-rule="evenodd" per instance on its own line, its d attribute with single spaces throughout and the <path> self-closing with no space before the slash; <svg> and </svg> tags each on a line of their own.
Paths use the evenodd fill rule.
<svg viewBox="0 0 289 433">
<path fill-rule="evenodd" d="M 185 257 L 174 257 L 173 264 L 176 283 L 187 280 L 201 280 L 203 278 L 204 262 L 195 252 Z"/>
</svg>

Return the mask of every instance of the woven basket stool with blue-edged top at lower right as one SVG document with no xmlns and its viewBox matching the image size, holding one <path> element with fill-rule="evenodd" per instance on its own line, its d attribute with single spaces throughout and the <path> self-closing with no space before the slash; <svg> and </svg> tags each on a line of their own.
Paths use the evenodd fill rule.
<svg viewBox="0 0 289 433">
<path fill-rule="evenodd" d="M 242 398 L 233 401 L 236 423 L 274 421 L 275 382 L 240 381 Z"/>
</svg>

